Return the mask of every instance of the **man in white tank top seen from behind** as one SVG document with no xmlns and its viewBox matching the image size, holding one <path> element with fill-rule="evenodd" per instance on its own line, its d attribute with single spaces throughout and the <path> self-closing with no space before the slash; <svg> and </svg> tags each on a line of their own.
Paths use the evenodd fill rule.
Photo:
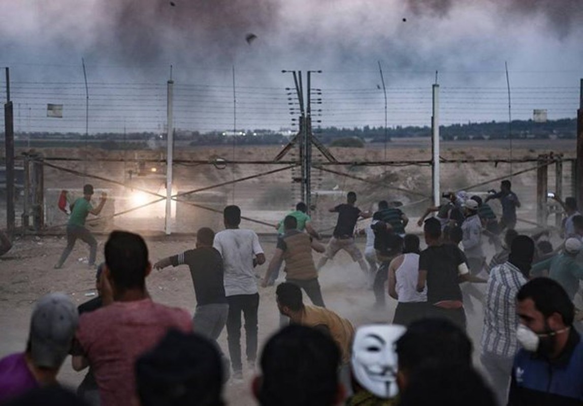
<svg viewBox="0 0 583 406">
<path fill-rule="evenodd" d="M 427 287 L 417 292 L 419 277 L 419 237 L 405 235 L 403 253 L 389 264 L 389 295 L 398 300 L 394 324 L 408 326 L 426 314 Z"/>
</svg>

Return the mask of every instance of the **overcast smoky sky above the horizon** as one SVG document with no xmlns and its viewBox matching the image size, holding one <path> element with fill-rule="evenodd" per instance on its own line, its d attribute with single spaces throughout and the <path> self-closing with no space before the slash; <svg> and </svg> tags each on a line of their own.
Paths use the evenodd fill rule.
<svg viewBox="0 0 583 406">
<path fill-rule="evenodd" d="M 172 5 L 174 4 L 174 5 Z M 15 0 L 0 2 L 0 66 L 17 130 L 202 131 L 288 127 L 290 74 L 321 69 L 322 125 L 504 121 L 533 108 L 574 117 L 583 77 L 581 0 Z M 248 34 L 256 38 L 246 41 Z M 233 66 L 235 108 L 233 108 Z M 2 86 L 4 78 L 1 78 Z M 381 89 L 380 89 L 381 88 Z M 47 119 L 46 104 L 64 105 Z"/>
</svg>

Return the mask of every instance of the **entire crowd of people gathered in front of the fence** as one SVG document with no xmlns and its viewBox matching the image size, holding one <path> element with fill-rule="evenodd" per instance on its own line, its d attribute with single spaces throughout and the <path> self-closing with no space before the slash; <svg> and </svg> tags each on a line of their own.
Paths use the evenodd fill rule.
<svg viewBox="0 0 583 406">
<path fill-rule="evenodd" d="M 86 185 L 73 203 L 55 268 L 78 238 L 89 245 L 90 264 L 96 260 L 85 220 L 107 196 L 94 209 L 92 195 Z M 0 360 L 0 404 L 222 406 L 224 384 L 245 376 L 262 406 L 583 404 L 574 305 L 583 279 L 583 217 L 574 199 L 561 202 L 564 241 L 553 250 L 544 232 L 515 231 L 520 202 L 509 181 L 484 200 L 444 197 L 419 220 L 425 249 L 407 233 L 399 202 L 381 200 L 371 213 L 356 206 L 354 192 L 329 209 L 338 219 L 326 245 L 298 203 L 276 225 L 269 262 L 258 235 L 240 228 L 234 205 L 224 208 L 224 230 L 201 228 L 194 249 L 153 264 L 140 235 L 113 231 L 97 267 L 96 298 L 79 308 L 65 294 L 37 301 L 26 348 Z M 501 201 L 500 221 L 491 199 Z M 357 223 L 370 217 L 360 232 L 367 236 L 363 255 Z M 490 260 L 487 242 L 496 250 Z M 387 295 L 396 300 L 392 323 L 354 326 L 326 308 L 318 274 L 340 250 L 364 273 L 375 309 L 385 309 Z M 318 263 L 313 252 L 323 254 Z M 264 263 L 259 281 L 256 267 Z M 183 265 L 194 284 L 194 316 L 154 302 L 146 289 L 152 269 Z M 277 283 L 282 267 L 285 281 Z M 258 285 L 274 284 L 280 329 L 258 354 Z M 473 301 L 484 309 L 479 365 L 466 333 Z M 228 354 L 217 343 L 225 327 Z M 76 394 L 57 385 L 68 355 L 74 370 L 87 370 Z"/>
</svg>

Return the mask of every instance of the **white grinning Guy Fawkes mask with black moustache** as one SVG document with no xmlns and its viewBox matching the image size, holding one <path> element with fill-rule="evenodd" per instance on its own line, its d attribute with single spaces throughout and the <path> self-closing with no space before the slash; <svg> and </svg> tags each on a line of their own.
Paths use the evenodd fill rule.
<svg viewBox="0 0 583 406">
<path fill-rule="evenodd" d="M 370 324 L 356 330 L 350 364 L 357 382 L 374 395 L 392 398 L 399 393 L 396 383 L 395 342 L 406 328 L 396 324 Z"/>
</svg>

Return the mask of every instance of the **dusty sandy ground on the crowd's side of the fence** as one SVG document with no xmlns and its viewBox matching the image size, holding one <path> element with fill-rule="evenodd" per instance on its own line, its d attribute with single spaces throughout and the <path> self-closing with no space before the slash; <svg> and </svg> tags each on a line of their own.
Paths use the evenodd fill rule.
<svg viewBox="0 0 583 406">
<path fill-rule="evenodd" d="M 98 236 L 100 251 L 106 236 Z M 363 246 L 364 238 L 359 238 Z M 12 352 L 23 351 L 26 344 L 30 314 L 34 301 L 47 292 L 61 291 L 71 295 L 77 304 L 90 299 L 86 294 L 94 292 L 94 270 L 79 259 L 87 257 L 87 248 L 78 243 L 65 267 L 52 269 L 65 245 L 65 239 L 55 236 L 26 238 L 15 241 L 14 248 L 0 259 L 0 357 Z M 191 248 L 191 237 L 174 237 L 149 239 L 150 258 L 154 261 Z M 275 236 L 262 236 L 261 245 L 268 260 L 275 247 Z M 314 255 L 317 260 L 319 255 Z M 98 261 L 103 259 L 100 252 Z M 266 264 L 258 267 L 258 273 L 264 274 Z M 346 253 L 339 253 L 335 260 L 328 262 L 320 274 L 322 294 L 328 308 L 351 320 L 355 326 L 361 324 L 392 320 L 396 302 L 387 296 L 387 308 L 384 311 L 373 310 L 373 292 L 366 289 L 364 276 L 359 266 L 350 260 Z M 180 306 L 191 313 L 195 308 L 194 290 L 187 267 L 153 271 L 147 278 L 147 288 L 153 299 L 170 306 Z M 259 348 L 268 337 L 278 329 L 279 316 L 275 303 L 275 288 L 259 288 Z M 306 298 L 308 301 L 308 299 Z M 475 314 L 469 315 L 469 334 L 475 343 L 479 343 L 482 326 L 482 309 L 475 303 Z M 243 336 L 244 337 L 244 336 Z M 477 341 L 476 341 L 477 340 Z M 219 343 L 227 352 L 226 331 L 220 336 Z M 477 345 L 477 344 L 475 344 Z M 243 383 L 227 383 L 225 396 L 229 404 L 253 405 L 250 392 L 254 371 L 244 372 Z M 82 379 L 82 373 L 71 369 L 69 359 L 59 374 L 59 380 L 70 386 L 76 386 Z"/>
</svg>

